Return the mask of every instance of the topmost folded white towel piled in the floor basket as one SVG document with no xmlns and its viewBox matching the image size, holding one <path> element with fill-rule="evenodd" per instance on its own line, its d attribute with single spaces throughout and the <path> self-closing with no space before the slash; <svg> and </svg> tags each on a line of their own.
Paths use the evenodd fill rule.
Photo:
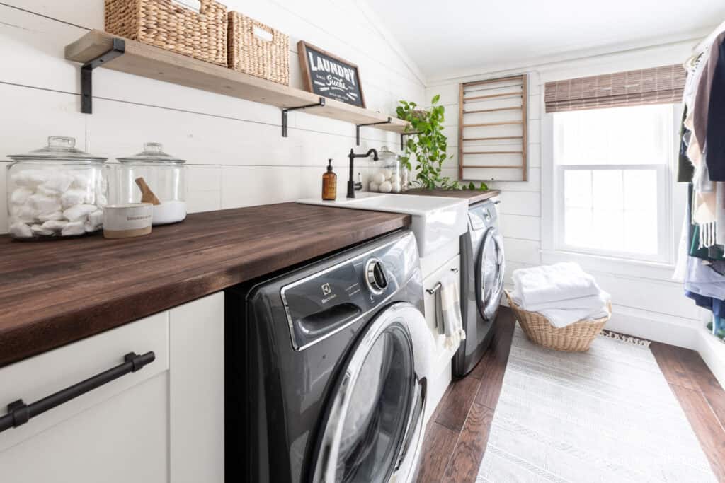
<svg viewBox="0 0 725 483">
<path fill-rule="evenodd" d="M 513 284 L 521 298 L 521 308 L 525 310 L 541 303 L 600 293 L 594 277 L 585 273 L 579 264 L 570 262 L 514 270 Z"/>
</svg>

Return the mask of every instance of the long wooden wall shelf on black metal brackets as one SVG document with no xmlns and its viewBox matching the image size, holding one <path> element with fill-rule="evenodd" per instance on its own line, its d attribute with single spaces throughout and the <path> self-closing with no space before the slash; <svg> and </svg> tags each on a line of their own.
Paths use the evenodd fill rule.
<svg viewBox="0 0 725 483">
<path fill-rule="evenodd" d="M 78 41 L 65 47 L 65 58 L 72 62 L 87 64 L 112 51 L 114 38 L 118 37 L 101 30 L 91 30 Z M 123 41 L 125 43 L 123 54 L 97 67 L 268 104 L 280 109 L 294 109 L 320 103 L 320 96 L 301 89 L 273 83 L 270 80 L 236 72 L 146 43 L 128 39 Z M 386 114 L 329 98 L 325 98 L 324 105 L 307 107 L 305 112 L 355 125 L 384 123 L 370 127 L 394 133 L 404 133 L 408 125 L 397 117 L 389 117 Z"/>
</svg>

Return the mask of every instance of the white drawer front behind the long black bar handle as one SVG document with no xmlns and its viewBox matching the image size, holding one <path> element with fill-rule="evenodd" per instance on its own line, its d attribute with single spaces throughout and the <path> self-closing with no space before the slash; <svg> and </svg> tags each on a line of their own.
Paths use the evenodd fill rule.
<svg viewBox="0 0 725 483">
<path fill-rule="evenodd" d="M 0 451 L 167 371 L 168 340 L 168 312 L 162 312 L 0 369 L 0 416 L 4 416 L 7 405 L 14 400 L 34 403 L 123 364 L 127 353 L 153 351 L 156 356 L 141 370 L 38 414 L 22 426 L 0 432 Z"/>
</svg>

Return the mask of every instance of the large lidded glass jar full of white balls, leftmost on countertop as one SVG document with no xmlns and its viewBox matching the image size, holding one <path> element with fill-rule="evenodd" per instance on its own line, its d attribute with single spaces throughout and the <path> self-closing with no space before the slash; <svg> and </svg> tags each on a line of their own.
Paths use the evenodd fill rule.
<svg viewBox="0 0 725 483">
<path fill-rule="evenodd" d="M 75 148 L 75 138 L 51 136 L 48 146 L 8 156 L 10 235 L 38 240 L 86 235 L 103 227 L 108 199 L 106 158 Z"/>
</svg>

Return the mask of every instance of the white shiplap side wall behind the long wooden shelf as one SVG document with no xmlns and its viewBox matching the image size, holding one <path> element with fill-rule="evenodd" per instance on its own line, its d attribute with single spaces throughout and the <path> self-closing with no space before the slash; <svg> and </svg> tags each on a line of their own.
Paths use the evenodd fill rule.
<svg viewBox="0 0 725 483">
<path fill-rule="evenodd" d="M 290 36 L 291 85 L 303 88 L 297 41 L 305 40 L 360 67 L 368 109 L 394 113 L 397 101 L 423 100 L 417 68 L 355 0 L 223 1 Z M 355 126 L 290 113 L 289 138 L 273 106 L 99 69 L 94 114 L 80 113 L 79 65 L 64 47 L 104 28 L 103 0 L 6 0 L 0 4 L 0 232 L 7 232 L 7 154 L 40 148 L 49 135 L 73 136 L 109 158 L 141 151 L 145 141 L 188 159 L 189 211 L 209 211 L 319 196 L 328 158 L 339 190 Z M 397 146 L 393 133 L 362 128 L 356 150 Z M 357 161 L 367 174 L 368 161 Z"/>
</svg>

